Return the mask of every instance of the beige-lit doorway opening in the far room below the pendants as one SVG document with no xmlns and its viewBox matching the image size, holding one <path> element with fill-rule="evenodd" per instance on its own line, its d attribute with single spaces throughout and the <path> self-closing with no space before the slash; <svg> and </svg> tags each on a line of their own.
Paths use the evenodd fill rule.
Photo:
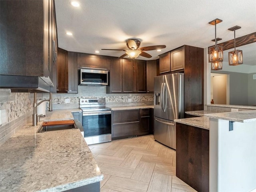
<svg viewBox="0 0 256 192">
<path fill-rule="evenodd" d="M 211 73 L 211 100 L 229 105 L 229 75 Z"/>
</svg>

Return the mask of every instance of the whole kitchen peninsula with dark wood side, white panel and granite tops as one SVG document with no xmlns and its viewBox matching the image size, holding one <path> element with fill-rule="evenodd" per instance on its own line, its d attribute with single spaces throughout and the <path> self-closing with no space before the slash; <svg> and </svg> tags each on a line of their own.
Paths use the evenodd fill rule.
<svg viewBox="0 0 256 192">
<path fill-rule="evenodd" d="M 201 117 L 175 120 L 177 122 L 177 146 L 182 148 L 182 143 L 178 145 L 179 137 L 182 136 L 183 146 L 186 147 L 183 150 L 187 150 L 188 153 L 188 158 L 185 156 L 187 162 L 180 164 L 180 167 L 183 165 L 184 170 L 180 171 L 178 168 L 179 148 L 176 150 L 177 176 L 182 174 L 182 180 L 193 188 L 199 186 L 197 189 L 199 191 L 204 191 L 203 189 L 207 187 L 209 191 L 225 192 L 256 189 L 256 110 L 252 110 L 255 107 L 209 106 L 211 111 L 186 112 Z M 231 108 L 242 111 L 217 112 L 214 107 L 219 107 L 218 110 L 226 108 L 222 109 L 224 111 L 230 111 Z M 194 147 L 196 150 L 193 150 Z M 193 152 L 201 156 L 193 155 Z M 205 156 L 207 153 L 208 157 Z M 207 159 L 209 167 L 204 169 Z M 202 180 L 190 179 L 191 170 L 193 174 L 201 176 Z M 208 176 L 209 182 L 205 180 Z"/>
</svg>

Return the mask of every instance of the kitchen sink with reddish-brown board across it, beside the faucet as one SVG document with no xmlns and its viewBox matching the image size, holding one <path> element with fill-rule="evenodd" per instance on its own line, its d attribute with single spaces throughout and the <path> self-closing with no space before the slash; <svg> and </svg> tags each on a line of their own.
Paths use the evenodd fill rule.
<svg viewBox="0 0 256 192">
<path fill-rule="evenodd" d="M 77 129 L 74 120 L 43 122 L 42 126 L 38 129 L 38 133 L 65 129 Z"/>
</svg>

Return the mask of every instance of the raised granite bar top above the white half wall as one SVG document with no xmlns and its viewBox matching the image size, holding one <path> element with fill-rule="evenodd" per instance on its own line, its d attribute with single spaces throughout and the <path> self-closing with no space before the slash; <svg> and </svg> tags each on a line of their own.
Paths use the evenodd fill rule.
<svg viewBox="0 0 256 192">
<path fill-rule="evenodd" d="M 212 113 L 205 116 L 214 119 L 224 119 L 234 122 L 253 122 L 256 121 L 256 110 L 238 111 L 238 112 L 224 112 L 224 113 Z"/>
</svg>

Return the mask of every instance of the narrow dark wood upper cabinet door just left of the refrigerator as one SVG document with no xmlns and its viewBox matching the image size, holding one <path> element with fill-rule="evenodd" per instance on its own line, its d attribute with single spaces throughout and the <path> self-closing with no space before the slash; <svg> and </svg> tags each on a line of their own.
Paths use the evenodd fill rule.
<svg viewBox="0 0 256 192">
<path fill-rule="evenodd" d="M 147 92 L 154 92 L 154 77 L 157 76 L 156 60 L 147 61 Z"/>
</svg>

